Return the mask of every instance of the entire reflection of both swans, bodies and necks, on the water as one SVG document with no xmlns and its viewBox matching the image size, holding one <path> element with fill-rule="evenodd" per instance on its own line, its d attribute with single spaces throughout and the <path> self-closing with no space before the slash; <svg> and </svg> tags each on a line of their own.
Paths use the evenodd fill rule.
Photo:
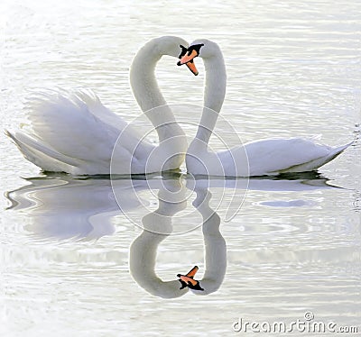
<svg viewBox="0 0 361 337">
<path fill-rule="evenodd" d="M 337 188 L 326 178 L 317 175 L 298 175 L 280 178 L 217 179 L 198 178 L 180 174 L 162 177 L 114 178 L 92 177 L 71 178 L 68 175 L 50 175 L 27 179 L 29 185 L 9 192 L 9 209 L 26 215 L 30 221 L 26 230 L 42 237 L 67 240 L 71 238 L 94 240 L 116 232 L 117 223 L 130 225 L 135 213 L 141 219 L 140 235 L 134 239 L 129 251 L 129 268 L 136 283 L 153 296 L 163 298 L 178 297 L 189 290 L 196 295 L 206 296 L 218 290 L 226 274 L 226 241 L 219 232 L 224 211 L 223 205 L 214 207 L 214 200 L 222 196 L 229 202 L 230 197 L 245 196 L 246 190 L 259 191 L 309 191 Z M 157 193 L 153 194 L 153 190 Z M 220 194 L 222 190 L 223 195 Z M 188 196 L 192 193 L 192 206 Z M 239 198 L 234 198 L 239 201 Z M 242 199 L 243 200 L 243 199 Z M 241 200 L 241 201 L 242 201 Z M 293 203 L 294 204 L 294 203 Z M 153 205 L 155 205 L 153 207 Z M 268 203 L 272 206 L 272 203 Z M 280 206 L 278 204 L 276 206 Z M 153 209 L 152 209 L 153 207 Z M 239 208 L 239 205 L 236 205 Z M 162 280 L 155 272 L 157 251 L 162 241 L 171 234 L 179 233 L 184 223 L 194 225 L 195 215 L 201 215 L 204 240 L 205 263 L 199 263 L 200 287 L 204 290 L 180 289 L 177 273 L 183 274 L 194 266 L 193 261 L 182 261 L 186 267 L 170 275 L 170 280 Z M 189 212 L 189 213 L 187 213 Z M 122 219 L 115 221 L 118 217 Z M 181 227 L 183 226 L 183 227 Z M 189 227 L 188 227 L 189 229 Z M 172 235 L 177 241 L 180 236 Z"/>
</svg>

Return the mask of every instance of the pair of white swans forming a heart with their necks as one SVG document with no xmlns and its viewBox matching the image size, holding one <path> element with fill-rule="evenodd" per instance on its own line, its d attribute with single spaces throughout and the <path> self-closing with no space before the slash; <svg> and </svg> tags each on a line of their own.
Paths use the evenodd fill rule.
<svg viewBox="0 0 361 337">
<path fill-rule="evenodd" d="M 46 93 L 31 103 L 32 133 L 7 132 L 26 159 L 48 171 L 76 175 L 143 174 L 180 168 L 186 154 L 187 170 L 194 175 L 248 177 L 311 171 L 347 148 L 332 148 L 301 138 L 246 143 L 230 150 L 208 149 L 226 93 L 226 68 L 215 42 L 164 36 L 147 42 L 136 54 L 130 71 L 134 97 L 153 123 L 160 144 L 143 140 L 134 128 L 102 105 L 97 96 L 79 92 L 70 96 Z M 204 60 L 206 86 L 197 135 L 187 150 L 185 133 L 157 85 L 154 70 L 163 55 L 179 58 L 197 75 L 193 59 Z M 120 142 L 118 136 L 120 134 Z M 115 144 L 118 140 L 118 144 Z"/>
</svg>

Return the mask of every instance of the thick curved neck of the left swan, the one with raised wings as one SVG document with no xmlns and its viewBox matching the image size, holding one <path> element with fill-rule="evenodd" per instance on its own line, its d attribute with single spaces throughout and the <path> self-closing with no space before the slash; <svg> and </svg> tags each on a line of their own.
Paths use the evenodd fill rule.
<svg viewBox="0 0 361 337">
<path fill-rule="evenodd" d="M 179 45 L 184 42 L 172 36 L 153 39 L 138 51 L 130 69 L 134 97 L 143 112 L 148 112 L 146 115 L 158 132 L 160 141 L 174 135 L 183 135 L 183 132 L 158 87 L 155 66 L 163 55 L 177 57 Z M 162 108 L 158 108 L 160 106 Z"/>
</svg>

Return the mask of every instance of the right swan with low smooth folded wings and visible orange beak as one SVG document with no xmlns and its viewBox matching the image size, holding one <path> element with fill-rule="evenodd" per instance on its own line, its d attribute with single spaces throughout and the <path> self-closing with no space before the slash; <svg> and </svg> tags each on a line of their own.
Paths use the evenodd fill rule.
<svg viewBox="0 0 361 337">
<path fill-rule="evenodd" d="M 182 51 L 179 66 L 193 63 L 193 59 L 199 57 L 203 59 L 206 70 L 204 106 L 199 128 L 186 154 L 187 170 L 191 174 L 252 177 L 312 171 L 336 158 L 352 143 L 333 148 L 302 138 L 265 139 L 248 142 L 230 150 L 209 150 L 209 137 L 226 94 L 225 62 L 218 44 L 213 41 L 193 41 L 188 50 L 180 47 Z M 192 72 L 198 75 L 196 69 Z"/>
</svg>

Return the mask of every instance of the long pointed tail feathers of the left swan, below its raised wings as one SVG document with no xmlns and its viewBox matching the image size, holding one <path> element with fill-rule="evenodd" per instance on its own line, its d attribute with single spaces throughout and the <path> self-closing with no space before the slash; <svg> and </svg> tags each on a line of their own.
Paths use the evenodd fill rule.
<svg viewBox="0 0 361 337">
<path fill-rule="evenodd" d="M 79 166 L 79 160 L 69 158 L 56 150 L 52 150 L 23 132 L 12 133 L 5 130 L 5 134 L 14 141 L 15 145 L 23 153 L 23 157 L 39 168 L 46 171 L 70 172 L 71 167 Z"/>
</svg>

